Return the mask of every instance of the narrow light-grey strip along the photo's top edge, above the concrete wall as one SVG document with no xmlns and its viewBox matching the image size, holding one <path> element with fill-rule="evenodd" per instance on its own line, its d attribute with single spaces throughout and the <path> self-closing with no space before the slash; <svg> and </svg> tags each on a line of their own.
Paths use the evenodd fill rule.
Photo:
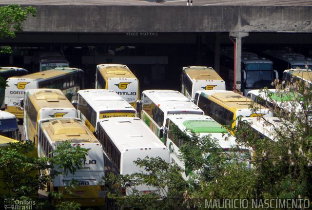
<svg viewBox="0 0 312 210">
<path fill-rule="evenodd" d="M 191 2 L 191 0 L 189 0 Z M 157 3 L 159 2 L 159 3 Z M 0 0 L 32 5 L 187 5 L 187 0 Z M 193 0 L 193 5 L 312 6 L 312 0 Z"/>
</svg>

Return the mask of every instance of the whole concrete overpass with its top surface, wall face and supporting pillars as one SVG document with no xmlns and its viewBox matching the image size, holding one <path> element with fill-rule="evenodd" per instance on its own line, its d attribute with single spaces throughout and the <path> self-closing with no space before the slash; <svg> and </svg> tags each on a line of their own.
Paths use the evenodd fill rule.
<svg viewBox="0 0 312 210">
<path fill-rule="evenodd" d="M 23 33 L 18 38 L 0 42 L 38 42 L 40 38 L 50 38 L 77 43 L 84 38 L 90 41 L 90 35 L 92 41 L 117 35 L 127 43 L 137 40 L 135 37 L 140 41 L 146 39 L 145 35 L 149 35 L 146 32 L 162 36 L 215 33 L 215 55 L 218 55 L 220 33 L 228 33 L 236 42 L 236 69 L 240 69 L 242 38 L 251 33 L 274 33 L 276 40 L 281 38 L 281 33 L 302 33 L 304 43 L 312 43 L 312 1 L 309 0 L 194 0 L 193 6 L 186 6 L 187 0 L 157 1 L 161 3 L 156 0 L 2 0 L 0 5 L 32 5 L 38 12 L 37 17 L 24 22 Z M 57 34 L 62 37 L 56 38 Z M 113 39 L 116 41 L 115 36 Z M 153 38 L 149 37 L 148 41 L 153 42 Z M 217 70 L 218 63 L 215 56 Z M 240 71 L 236 71 L 236 78 L 240 78 Z"/>
</svg>

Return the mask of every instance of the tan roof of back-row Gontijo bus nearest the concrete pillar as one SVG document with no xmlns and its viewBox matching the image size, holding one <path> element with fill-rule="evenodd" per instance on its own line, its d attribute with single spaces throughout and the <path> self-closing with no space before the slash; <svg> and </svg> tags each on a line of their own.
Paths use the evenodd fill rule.
<svg viewBox="0 0 312 210">
<path fill-rule="evenodd" d="M 189 66 L 183 67 L 183 71 L 193 80 L 223 80 L 215 70 L 208 66 Z"/>
</svg>

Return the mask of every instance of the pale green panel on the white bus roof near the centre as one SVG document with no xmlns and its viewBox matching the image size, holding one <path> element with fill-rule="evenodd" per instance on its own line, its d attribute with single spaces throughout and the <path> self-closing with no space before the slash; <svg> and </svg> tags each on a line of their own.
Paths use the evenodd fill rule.
<svg viewBox="0 0 312 210">
<path fill-rule="evenodd" d="M 183 125 L 195 133 L 228 133 L 225 128 L 213 120 L 186 120 Z"/>
</svg>

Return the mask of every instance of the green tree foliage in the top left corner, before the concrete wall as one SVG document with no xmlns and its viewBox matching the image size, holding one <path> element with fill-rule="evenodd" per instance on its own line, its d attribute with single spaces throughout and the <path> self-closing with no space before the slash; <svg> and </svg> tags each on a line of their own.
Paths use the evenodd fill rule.
<svg viewBox="0 0 312 210">
<path fill-rule="evenodd" d="M 36 16 L 37 9 L 27 6 L 24 9 L 18 4 L 10 4 L 0 7 L 0 39 L 11 37 L 15 38 L 15 33 L 22 32 L 22 23 L 28 15 Z M 0 54 L 12 53 L 11 47 L 0 47 Z"/>
</svg>

